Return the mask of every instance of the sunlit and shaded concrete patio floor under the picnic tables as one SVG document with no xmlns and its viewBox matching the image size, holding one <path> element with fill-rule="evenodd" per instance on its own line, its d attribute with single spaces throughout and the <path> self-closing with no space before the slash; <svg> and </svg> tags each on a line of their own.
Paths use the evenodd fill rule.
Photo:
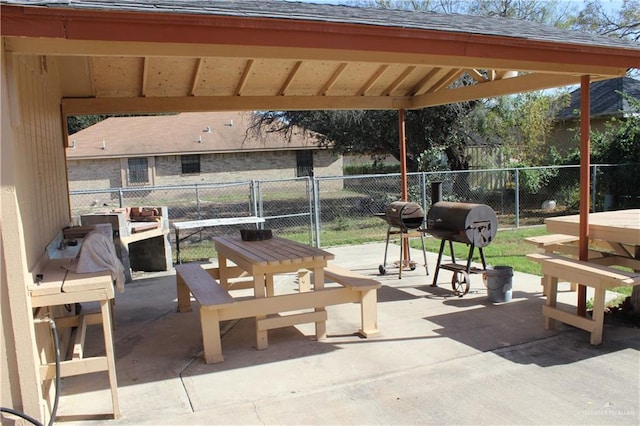
<svg viewBox="0 0 640 426">
<path fill-rule="evenodd" d="M 224 323 L 225 361 L 205 364 L 197 309 L 176 312 L 173 273 L 145 274 L 117 295 L 115 352 L 121 417 L 106 374 L 63 379 L 65 424 L 632 424 L 640 423 L 640 333 L 606 322 L 604 343 L 559 324 L 547 331 L 540 278 L 515 273 L 512 301 L 490 302 L 481 275 L 457 297 L 451 273 L 388 267 L 384 244 L 329 248 L 335 263 L 378 279 L 379 337 L 362 339 L 355 304 L 328 307 L 328 339 L 312 324 L 269 332 Z M 390 246 L 389 259 L 397 259 Z M 412 252 L 421 261 L 422 253 Z M 294 291 L 295 275 L 276 289 Z M 560 300 L 575 303 L 575 293 Z M 92 306 L 83 305 L 83 309 Z M 95 331 L 94 331 L 95 330 Z M 89 355 L 99 354 L 99 327 Z"/>
</svg>

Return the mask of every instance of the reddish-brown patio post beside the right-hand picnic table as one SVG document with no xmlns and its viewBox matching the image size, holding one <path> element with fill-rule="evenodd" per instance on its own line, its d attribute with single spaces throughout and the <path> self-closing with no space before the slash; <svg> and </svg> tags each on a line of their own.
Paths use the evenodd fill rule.
<svg viewBox="0 0 640 426">
<path fill-rule="evenodd" d="M 591 186 L 591 111 L 590 76 L 580 78 L 580 227 L 579 257 L 589 259 L 589 192 Z M 578 315 L 587 315 L 587 288 L 578 285 Z"/>
</svg>

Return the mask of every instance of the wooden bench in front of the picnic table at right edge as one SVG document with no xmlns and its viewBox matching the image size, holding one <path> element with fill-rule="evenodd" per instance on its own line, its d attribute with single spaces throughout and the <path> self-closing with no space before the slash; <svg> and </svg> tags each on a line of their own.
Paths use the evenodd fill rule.
<svg viewBox="0 0 640 426">
<path fill-rule="evenodd" d="M 555 320 L 572 325 L 591 333 L 590 343 L 602 343 L 604 325 L 605 293 L 608 288 L 640 285 L 640 273 L 626 272 L 604 265 L 585 262 L 578 259 L 549 253 L 527 255 L 529 259 L 542 266 L 545 275 L 545 294 L 547 300 L 542 308 L 545 328 L 552 329 Z M 592 318 L 585 318 L 557 308 L 558 280 L 570 280 L 594 289 Z"/>
</svg>

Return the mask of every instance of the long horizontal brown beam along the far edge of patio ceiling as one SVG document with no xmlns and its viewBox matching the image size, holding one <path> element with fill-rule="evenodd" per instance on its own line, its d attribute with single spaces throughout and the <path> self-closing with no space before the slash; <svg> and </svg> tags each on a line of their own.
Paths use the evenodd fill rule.
<svg viewBox="0 0 640 426">
<path fill-rule="evenodd" d="M 405 96 L 181 96 L 146 98 L 64 98 L 62 111 L 77 114 L 141 114 L 150 112 L 364 109 L 410 106 Z"/>
</svg>

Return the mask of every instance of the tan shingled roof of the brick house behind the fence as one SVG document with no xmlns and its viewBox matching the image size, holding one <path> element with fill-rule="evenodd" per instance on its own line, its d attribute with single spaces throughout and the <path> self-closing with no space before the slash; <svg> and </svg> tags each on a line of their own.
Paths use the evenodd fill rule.
<svg viewBox="0 0 640 426">
<path fill-rule="evenodd" d="M 312 135 L 247 133 L 247 112 L 190 112 L 143 117 L 110 117 L 69 136 L 71 160 L 320 149 Z"/>
</svg>

